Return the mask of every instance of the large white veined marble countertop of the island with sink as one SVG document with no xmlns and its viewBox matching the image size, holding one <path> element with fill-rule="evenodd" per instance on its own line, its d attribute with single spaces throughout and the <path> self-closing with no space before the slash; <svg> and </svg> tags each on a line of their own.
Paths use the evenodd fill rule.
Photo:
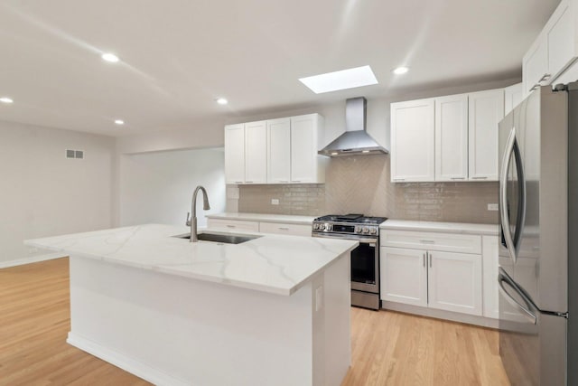
<svg viewBox="0 0 578 386">
<path fill-rule="evenodd" d="M 25 240 L 24 244 L 73 258 L 99 259 L 284 296 L 358 245 L 352 240 L 270 234 L 237 245 L 191 243 L 172 237 L 189 231 L 183 226 L 145 224 Z"/>
</svg>

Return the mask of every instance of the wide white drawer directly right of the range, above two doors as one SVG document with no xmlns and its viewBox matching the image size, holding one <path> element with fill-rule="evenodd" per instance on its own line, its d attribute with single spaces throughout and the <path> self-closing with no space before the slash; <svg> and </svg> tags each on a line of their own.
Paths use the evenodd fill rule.
<svg viewBox="0 0 578 386">
<path fill-rule="evenodd" d="M 481 253 L 481 237 L 476 235 L 383 230 L 380 242 L 383 247 Z"/>
</svg>

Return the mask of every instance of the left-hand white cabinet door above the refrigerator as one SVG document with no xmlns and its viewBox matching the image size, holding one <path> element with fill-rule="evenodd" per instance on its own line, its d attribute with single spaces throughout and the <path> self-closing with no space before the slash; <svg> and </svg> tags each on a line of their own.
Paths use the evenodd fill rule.
<svg viewBox="0 0 578 386">
<path fill-rule="evenodd" d="M 536 86 L 546 84 L 549 79 L 547 44 L 545 35 L 541 34 L 524 56 L 522 61 L 524 96 L 527 96 Z"/>
</svg>

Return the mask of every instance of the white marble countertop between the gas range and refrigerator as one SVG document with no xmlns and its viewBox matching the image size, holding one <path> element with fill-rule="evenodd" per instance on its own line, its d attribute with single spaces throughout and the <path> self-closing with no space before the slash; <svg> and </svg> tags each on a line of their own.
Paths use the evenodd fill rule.
<svg viewBox="0 0 578 386">
<path fill-rule="evenodd" d="M 497 236 L 499 226 L 495 224 L 472 224 L 467 222 L 437 222 L 437 221 L 409 221 L 387 220 L 379 226 L 382 230 L 395 231 L 433 231 L 462 234 L 481 234 Z"/>
</svg>

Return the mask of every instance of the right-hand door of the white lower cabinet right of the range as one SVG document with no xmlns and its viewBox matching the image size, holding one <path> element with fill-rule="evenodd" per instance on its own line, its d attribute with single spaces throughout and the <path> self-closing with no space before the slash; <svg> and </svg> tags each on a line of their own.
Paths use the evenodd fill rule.
<svg viewBox="0 0 578 386">
<path fill-rule="evenodd" d="M 429 306 L 481 315 L 481 256 L 428 252 Z"/>
</svg>

